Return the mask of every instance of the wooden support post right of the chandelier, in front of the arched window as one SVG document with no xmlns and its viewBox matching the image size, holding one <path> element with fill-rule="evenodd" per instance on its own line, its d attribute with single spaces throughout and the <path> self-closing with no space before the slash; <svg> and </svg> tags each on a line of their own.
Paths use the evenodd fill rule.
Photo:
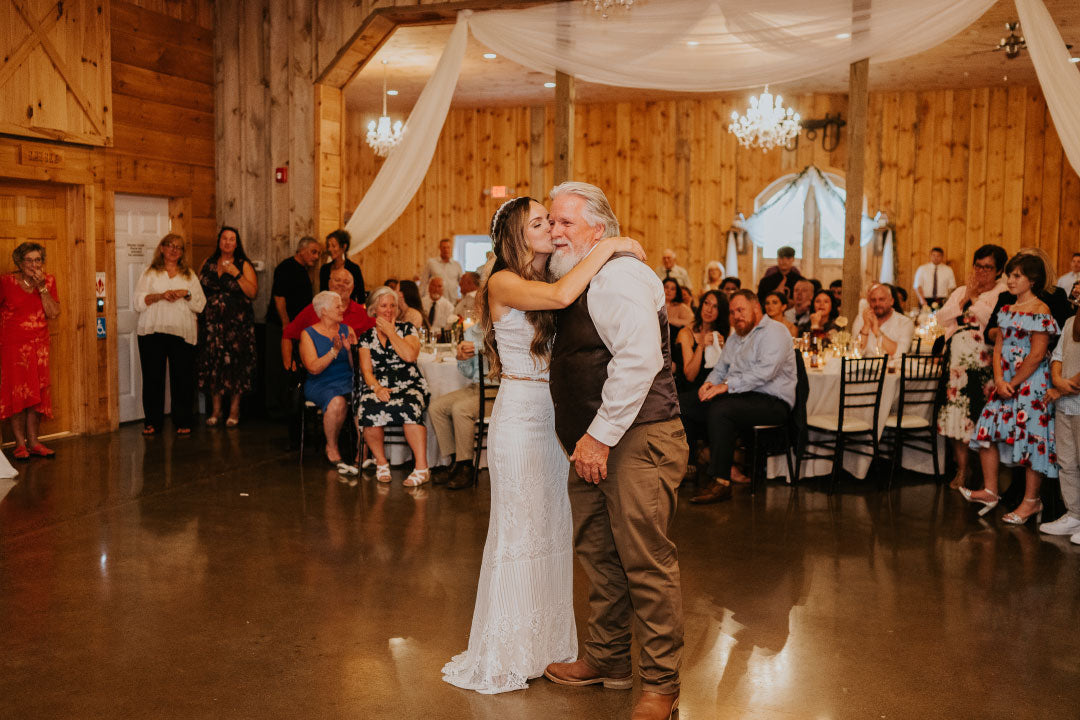
<svg viewBox="0 0 1080 720">
<path fill-rule="evenodd" d="M 843 296 L 840 314 L 854 322 L 863 289 L 863 175 L 866 155 L 866 109 L 869 103 L 869 60 L 851 64 L 848 94 L 847 221 L 843 232 Z"/>
</svg>

